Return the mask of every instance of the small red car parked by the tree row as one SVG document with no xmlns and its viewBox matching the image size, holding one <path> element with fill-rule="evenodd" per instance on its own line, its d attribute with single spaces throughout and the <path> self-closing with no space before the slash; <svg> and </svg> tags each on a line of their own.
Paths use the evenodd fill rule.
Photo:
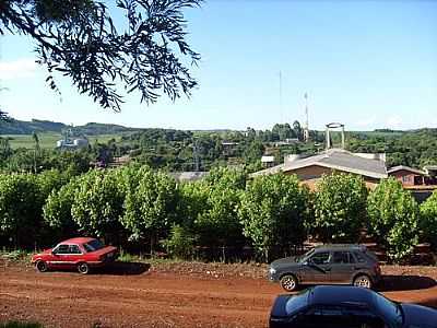
<svg viewBox="0 0 437 328">
<path fill-rule="evenodd" d="M 86 274 L 91 268 L 102 267 L 116 259 L 117 248 L 105 246 L 98 239 L 79 237 L 59 243 L 32 257 L 39 272 L 48 269 L 78 269 Z"/>
</svg>

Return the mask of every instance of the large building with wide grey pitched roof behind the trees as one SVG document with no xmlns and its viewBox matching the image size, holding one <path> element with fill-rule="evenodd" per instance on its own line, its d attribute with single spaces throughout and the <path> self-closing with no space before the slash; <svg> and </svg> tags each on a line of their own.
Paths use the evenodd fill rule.
<svg viewBox="0 0 437 328">
<path fill-rule="evenodd" d="M 297 175 L 299 180 L 312 188 L 323 174 L 339 172 L 359 175 L 366 185 L 373 188 L 380 179 L 388 177 L 385 160 L 385 154 L 351 153 L 343 149 L 329 149 L 312 156 L 288 155 L 284 159 L 284 164 L 256 172 L 251 177 L 283 172 Z"/>
</svg>

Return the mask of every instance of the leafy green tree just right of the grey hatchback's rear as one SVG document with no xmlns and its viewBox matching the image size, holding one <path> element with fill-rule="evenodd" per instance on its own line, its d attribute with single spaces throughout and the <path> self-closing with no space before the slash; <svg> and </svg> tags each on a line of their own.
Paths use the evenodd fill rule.
<svg viewBox="0 0 437 328">
<path fill-rule="evenodd" d="M 418 219 L 416 201 L 394 178 L 382 180 L 368 197 L 369 231 L 395 261 L 417 244 Z"/>
</svg>

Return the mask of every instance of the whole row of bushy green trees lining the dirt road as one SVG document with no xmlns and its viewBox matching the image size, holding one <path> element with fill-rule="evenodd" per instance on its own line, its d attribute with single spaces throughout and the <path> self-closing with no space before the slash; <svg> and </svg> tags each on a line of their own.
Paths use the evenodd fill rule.
<svg viewBox="0 0 437 328">
<path fill-rule="evenodd" d="M 366 227 L 398 261 L 418 242 L 436 247 L 436 218 L 437 194 L 420 207 L 394 179 L 369 192 L 362 178 L 342 174 L 324 176 L 317 191 L 295 176 L 248 180 L 244 171 L 228 168 L 186 184 L 139 165 L 79 176 L 0 175 L 3 246 L 39 248 L 91 235 L 180 258 L 240 260 L 249 247 L 269 261 L 291 254 L 308 236 L 358 242 Z"/>
</svg>

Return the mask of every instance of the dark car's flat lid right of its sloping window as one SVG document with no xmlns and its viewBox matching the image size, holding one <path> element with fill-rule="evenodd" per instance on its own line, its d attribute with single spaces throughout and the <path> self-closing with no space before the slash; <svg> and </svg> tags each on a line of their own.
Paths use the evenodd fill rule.
<svg viewBox="0 0 437 328">
<path fill-rule="evenodd" d="M 415 304 L 401 304 L 401 306 L 405 328 L 437 328 L 437 309 Z"/>
</svg>

